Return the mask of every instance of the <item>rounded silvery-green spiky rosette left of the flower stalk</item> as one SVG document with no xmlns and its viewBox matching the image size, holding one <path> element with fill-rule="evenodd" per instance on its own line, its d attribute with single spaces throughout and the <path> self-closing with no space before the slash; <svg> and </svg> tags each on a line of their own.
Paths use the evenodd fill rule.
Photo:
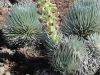
<svg viewBox="0 0 100 75">
<path fill-rule="evenodd" d="M 40 39 L 42 25 L 38 21 L 37 11 L 35 4 L 19 3 L 11 8 L 2 29 L 8 44 L 31 45 Z"/>
</svg>

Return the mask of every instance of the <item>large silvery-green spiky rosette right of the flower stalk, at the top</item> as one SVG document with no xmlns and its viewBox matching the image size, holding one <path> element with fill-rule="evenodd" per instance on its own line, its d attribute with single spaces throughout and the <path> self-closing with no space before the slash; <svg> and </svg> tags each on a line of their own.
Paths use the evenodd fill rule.
<svg viewBox="0 0 100 75">
<path fill-rule="evenodd" d="M 62 31 L 66 35 L 86 36 L 100 33 L 100 1 L 76 0 L 70 6 L 62 20 Z"/>
</svg>

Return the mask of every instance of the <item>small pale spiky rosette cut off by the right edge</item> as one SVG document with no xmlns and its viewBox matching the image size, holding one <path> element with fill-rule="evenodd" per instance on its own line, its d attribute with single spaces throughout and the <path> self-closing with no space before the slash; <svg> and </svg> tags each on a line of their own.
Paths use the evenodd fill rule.
<svg viewBox="0 0 100 75">
<path fill-rule="evenodd" d="M 88 36 L 89 42 L 92 44 L 92 46 L 100 49 L 100 34 L 94 33 Z"/>
</svg>

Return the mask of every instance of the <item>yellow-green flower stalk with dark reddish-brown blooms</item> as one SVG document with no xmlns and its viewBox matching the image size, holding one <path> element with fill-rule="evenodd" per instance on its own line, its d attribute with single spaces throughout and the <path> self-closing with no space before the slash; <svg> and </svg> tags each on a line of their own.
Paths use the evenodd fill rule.
<svg viewBox="0 0 100 75">
<path fill-rule="evenodd" d="M 46 31 L 47 34 L 49 34 L 53 43 L 56 43 L 56 5 L 51 3 L 51 0 L 39 0 L 38 5 L 40 6 L 40 9 L 38 11 L 38 13 L 41 14 L 40 20 L 42 20 L 42 23 L 44 23 L 43 30 Z"/>
</svg>

